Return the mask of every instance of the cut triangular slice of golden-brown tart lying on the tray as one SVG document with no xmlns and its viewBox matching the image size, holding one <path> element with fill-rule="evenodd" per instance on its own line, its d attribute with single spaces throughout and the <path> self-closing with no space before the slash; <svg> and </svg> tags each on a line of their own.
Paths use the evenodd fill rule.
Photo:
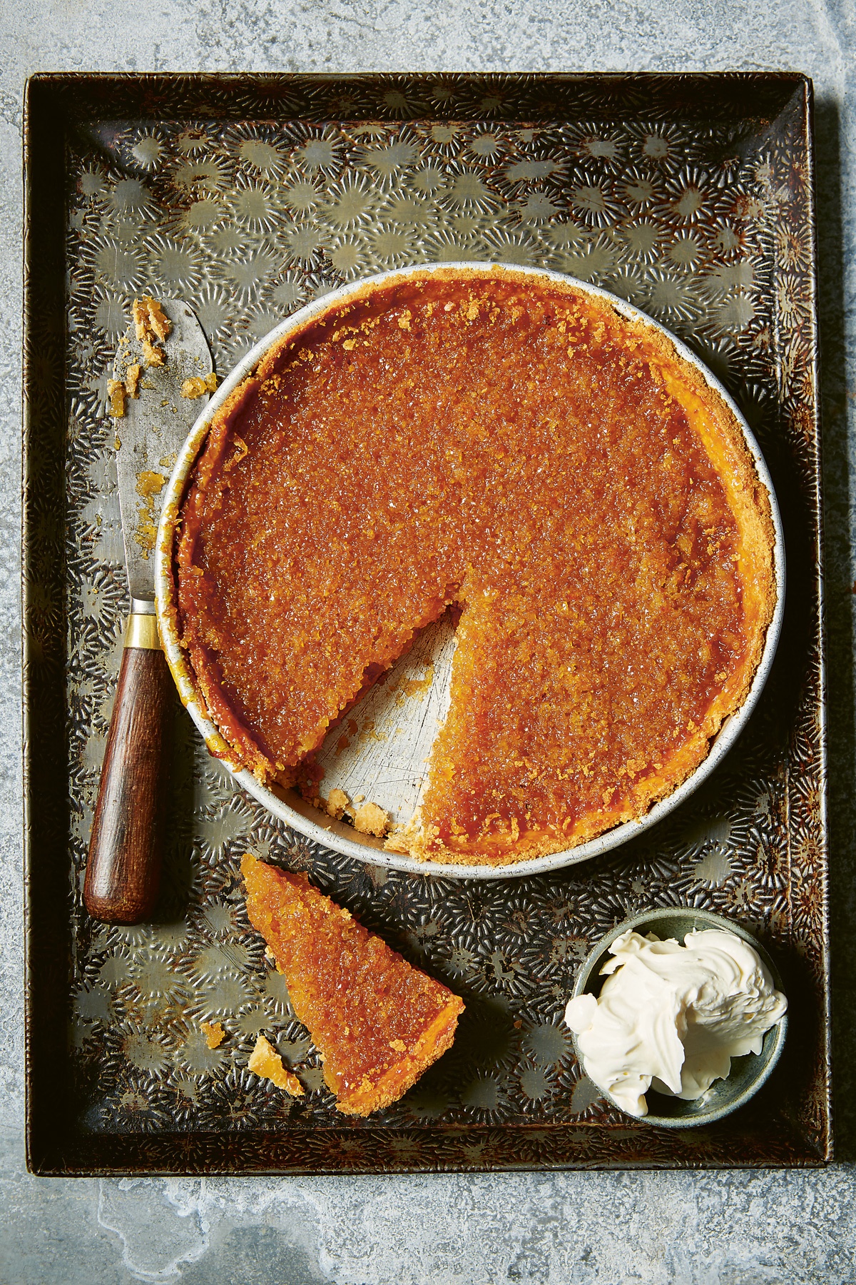
<svg viewBox="0 0 856 1285">
<path fill-rule="evenodd" d="M 313 888 L 246 853 L 250 923 L 285 974 L 296 1016 L 345 1115 L 389 1106 L 452 1046 L 463 1004 Z"/>
</svg>

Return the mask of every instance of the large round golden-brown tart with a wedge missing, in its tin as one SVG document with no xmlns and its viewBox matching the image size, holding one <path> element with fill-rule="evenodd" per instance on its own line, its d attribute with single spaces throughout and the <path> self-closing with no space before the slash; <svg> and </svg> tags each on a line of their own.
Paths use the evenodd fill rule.
<svg viewBox="0 0 856 1285">
<path fill-rule="evenodd" d="M 264 356 L 185 495 L 177 626 L 236 762 L 293 783 L 457 604 L 418 816 L 439 861 L 560 852 L 642 816 L 743 703 L 776 586 L 725 401 L 572 284 L 371 285 Z"/>
</svg>

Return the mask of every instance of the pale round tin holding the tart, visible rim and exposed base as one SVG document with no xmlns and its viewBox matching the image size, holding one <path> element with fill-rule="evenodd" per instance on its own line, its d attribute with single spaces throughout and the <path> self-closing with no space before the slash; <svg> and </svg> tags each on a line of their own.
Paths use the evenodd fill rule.
<svg viewBox="0 0 856 1285">
<path fill-rule="evenodd" d="M 327 817 L 323 812 L 320 812 L 317 808 L 312 807 L 312 804 L 300 798 L 295 790 L 284 790 L 276 785 L 262 785 L 250 771 L 231 761 L 231 750 L 227 741 L 222 738 L 217 726 L 208 718 L 204 703 L 199 698 L 195 675 L 187 663 L 186 651 L 178 642 L 173 625 L 175 581 L 172 560 L 176 524 L 190 473 L 196 456 L 204 445 L 212 418 L 218 407 L 232 393 L 232 391 L 252 374 L 253 369 L 273 344 L 278 344 L 284 339 L 287 341 L 290 337 L 296 335 L 309 323 L 317 321 L 329 311 L 347 303 L 353 294 L 364 292 L 367 284 L 380 285 L 395 284 L 399 281 L 406 283 L 409 278 L 417 275 L 424 276 L 426 272 L 466 272 L 468 270 L 480 272 L 484 272 L 485 270 L 490 270 L 492 272 L 508 271 L 513 272 L 517 279 L 520 276 L 531 276 L 535 280 L 558 281 L 563 284 L 571 283 L 576 289 L 586 294 L 607 299 L 612 307 L 628 320 L 651 326 L 660 334 L 665 335 L 674 344 L 680 357 L 694 366 L 696 370 L 698 370 L 703 377 L 705 382 L 714 388 L 720 397 L 723 397 L 733 411 L 737 421 L 740 424 L 746 446 L 752 455 L 758 478 L 769 493 L 770 511 L 775 533 L 774 571 L 776 581 L 776 604 L 773 619 L 767 627 L 761 660 L 743 705 L 723 723 L 723 727 L 711 743 L 710 752 L 705 761 L 689 777 L 687 777 L 681 785 L 678 786 L 678 789 L 656 803 L 638 820 L 626 821 L 622 825 L 598 835 L 595 839 L 586 840 L 585 843 L 580 843 L 579 846 L 569 848 L 563 852 L 556 852 L 548 856 L 502 866 L 448 865 L 435 861 L 418 861 L 407 855 L 390 852 L 384 848 L 382 840 L 376 839 L 372 835 L 359 834 L 347 822 L 335 821 Z M 711 374 L 711 371 L 707 370 L 707 368 L 685 344 L 671 335 L 663 326 L 658 325 L 643 312 L 639 312 L 638 308 L 634 308 L 624 299 L 610 294 L 608 290 L 602 290 L 598 287 L 589 285 L 585 281 L 579 281 L 548 269 L 527 269 L 517 265 L 508 265 L 506 267 L 504 265 L 498 263 L 420 263 L 409 269 L 381 272 L 376 276 L 366 278 L 341 287 L 330 294 L 325 294 L 322 298 L 293 314 L 293 316 L 287 317 L 281 325 L 276 326 L 276 329 L 261 339 L 223 380 L 214 396 L 205 405 L 203 412 L 199 415 L 199 419 L 187 436 L 166 491 L 155 550 L 155 594 L 158 621 L 169 668 L 176 680 L 181 700 L 186 705 L 191 718 L 205 739 L 209 750 L 222 759 L 234 775 L 236 784 L 267 807 L 273 816 L 281 819 L 295 830 L 307 835 L 307 838 L 314 839 L 318 843 L 331 847 L 349 857 L 354 857 L 359 861 L 368 861 L 373 865 L 384 865 L 397 870 L 406 870 L 413 874 L 444 875 L 447 878 L 458 879 L 503 879 L 509 876 L 522 876 L 548 870 L 557 870 L 567 865 L 575 865 L 580 861 L 588 861 L 590 857 L 598 856 L 602 852 L 608 852 L 619 844 L 642 834 L 644 830 L 648 830 L 652 825 L 656 825 L 680 803 L 683 803 L 683 801 L 711 775 L 711 772 L 725 757 L 728 750 L 740 735 L 740 731 L 757 703 L 773 664 L 782 628 L 784 587 L 785 562 L 782 519 L 766 463 L 743 415 L 739 412 L 732 397 Z M 420 664 L 426 667 L 430 660 L 431 663 L 435 663 L 435 668 L 439 668 L 440 673 L 448 675 L 452 654 L 450 637 L 448 636 L 448 632 L 444 636 L 440 628 L 440 631 L 435 634 L 429 634 L 429 631 L 426 631 L 426 635 L 427 637 L 424 639 L 421 650 L 415 648 L 413 653 L 411 653 L 404 662 L 399 662 L 399 664 L 404 667 L 403 672 L 411 672 L 415 664 L 417 667 Z M 411 667 L 411 669 L 407 667 Z M 398 669 L 398 666 L 395 669 Z M 386 686 L 389 687 L 389 684 Z M 420 686 L 418 680 L 415 682 L 415 686 Z M 339 754 L 329 753 L 326 759 L 323 759 L 323 750 L 320 752 L 320 757 L 325 761 L 325 767 L 327 768 L 325 774 L 325 790 L 339 785 L 345 789 L 345 793 L 349 793 L 349 795 L 353 797 L 354 786 L 352 784 L 349 789 L 348 783 L 352 779 L 359 783 L 366 783 L 362 785 L 362 793 L 364 793 L 366 798 L 371 798 L 380 803 L 391 812 L 394 819 L 399 821 L 407 820 L 407 813 L 413 811 L 418 798 L 418 776 L 420 774 L 422 776 L 425 775 L 424 765 L 425 758 L 427 757 L 426 748 L 430 749 L 432 739 L 431 727 L 435 727 L 438 717 L 441 717 L 443 713 L 443 693 L 440 686 L 441 685 L 438 684 L 438 678 L 435 677 L 434 684 L 429 685 L 427 705 L 425 708 L 422 708 L 422 700 L 420 698 L 418 704 L 409 702 L 404 713 L 402 713 L 400 708 L 394 711 L 394 721 L 399 723 L 404 721 L 408 723 L 407 735 L 404 739 L 397 739 L 395 744 L 393 744 L 391 740 L 385 741 L 379 736 L 368 739 L 361 736 L 358 738 L 361 744 L 353 748 L 353 750 L 350 750 L 349 747 L 349 758 L 347 758 L 344 763 L 340 762 Z M 382 708 L 382 693 L 370 693 L 368 696 L 364 696 L 361 704 L 352 711 L 352 714 L 357 714 L 366 702 L 370 703 L 368 712 L 372 713 L 373 717 L 371 722 L 375 725 L 376 717 L 385 717 L 385 711 Z M 379 708 L 376 708 L 379 707 L 379 703 L 380 713 Z M 379 749 L 377 747 L 386 748 Z M 395 756 L 400 756 L 402 747 L 406 747 L 407 749 L 406 761 L 397 761 Z M 384 794 L 384 790 L 388 793 Z"/>
</svg>

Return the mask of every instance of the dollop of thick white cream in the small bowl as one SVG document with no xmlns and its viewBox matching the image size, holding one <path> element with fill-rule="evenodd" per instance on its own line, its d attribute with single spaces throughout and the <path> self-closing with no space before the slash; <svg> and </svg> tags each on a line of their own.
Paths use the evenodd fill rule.
<svg viewBox="0 0 856 1285">
<path fill-rule="evenodd" d="M 565 1010 L 586 1076 L 630 1115 L 648 1114 L 651 1087 L 701 1097 L 729 1074 L 732 1058 L 761 1052 L 788 1007 L 757 951 L 734 933 L 710 928 L 684 943 L 621 933 L 599 998 L 579 995 Z"/>
</svg>

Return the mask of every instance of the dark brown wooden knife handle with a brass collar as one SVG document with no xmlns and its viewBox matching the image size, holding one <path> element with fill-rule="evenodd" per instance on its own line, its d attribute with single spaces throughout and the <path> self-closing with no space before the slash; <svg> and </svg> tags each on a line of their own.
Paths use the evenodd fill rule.
<svg viewBox="0 0 856 1285">
<path fill-rule="evenodd" d="M 139 924 L 158 900 L 173 691 L 154 616 L 131 616 L 83 883 L 87 911 L 108 924 Z"/>
</svg>

